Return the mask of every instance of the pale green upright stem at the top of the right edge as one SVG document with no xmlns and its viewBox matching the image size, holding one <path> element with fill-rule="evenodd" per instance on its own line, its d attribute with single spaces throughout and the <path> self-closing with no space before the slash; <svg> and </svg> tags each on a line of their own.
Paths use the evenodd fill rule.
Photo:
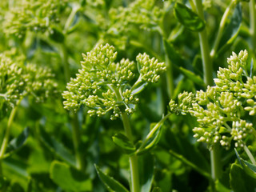
<svg viewBox="0 0 256 192">
<path fill-rule="evenodd" d="M 256 50 L 256 7 L 255 0 L 250 0 L 250 35 L 253 44 L 253 50 L 255 54 Z"/>
</svg>

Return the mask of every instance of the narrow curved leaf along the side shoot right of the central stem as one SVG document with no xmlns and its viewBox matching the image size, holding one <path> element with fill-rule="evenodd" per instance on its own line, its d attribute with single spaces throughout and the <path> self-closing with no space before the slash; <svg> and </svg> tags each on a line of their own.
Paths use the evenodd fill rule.
<svg viewBox="0 0 256 192">
<path fill-rule="evenodd" d="M 157 126 L 157 124 L 152 123 L 150 126 Z M 137 154 L 145 154 L 149 150 L 153 149 L 156 146 L 162 135 L 162 124 L 158 127 L 158 130 L 150 136 L 151 132 L 146 136 L 146 138 L 150 138 L 148 142 L 146 142 L 145 146 L 140 146 Z M 142 144 L 143 145 L 143 144 Z"/>
</svg>

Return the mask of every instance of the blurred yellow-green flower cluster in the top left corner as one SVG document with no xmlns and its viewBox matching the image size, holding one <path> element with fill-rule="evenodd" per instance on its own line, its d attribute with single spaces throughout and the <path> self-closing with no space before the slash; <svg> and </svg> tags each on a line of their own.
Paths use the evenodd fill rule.
<svg viewBox="0 0 256 192">
<path fill-rule="evenodd" d="M 66 0 L 17 1 L 5 13 L 2 28 L 5 34 L 22 38 L 26 31 L 53 33 L 52 25 L 59 22 L 59 13 Z"/>
</svg>

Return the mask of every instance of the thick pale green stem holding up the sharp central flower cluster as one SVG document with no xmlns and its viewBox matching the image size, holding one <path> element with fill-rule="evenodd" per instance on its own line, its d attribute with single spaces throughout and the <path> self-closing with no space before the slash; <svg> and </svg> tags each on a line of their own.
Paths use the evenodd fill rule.
<svg viewBox="0 0 256 192">
<path fill-rule="evenodd" d="M 133 141 L 131 128 L 130 128 L 130 122 L 128 115 L 126 113 L 122 113 L 122 123 L 126 132 L 127 138 L 130 139 L 130 141 Z M 131 192 L 139 192 L 139 177 L 138 177 L 138 158 L 136 154 L 133 154 L 129 158 L 130 160 L 130 180 L 131 180 L 131 186 L 130 191 Z"/>
</svg>

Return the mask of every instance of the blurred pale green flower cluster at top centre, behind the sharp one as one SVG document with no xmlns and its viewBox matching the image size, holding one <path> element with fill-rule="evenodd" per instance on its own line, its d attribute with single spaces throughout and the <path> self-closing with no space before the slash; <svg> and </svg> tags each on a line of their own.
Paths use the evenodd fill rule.
<svg viewBox="0 0 256 192">
<path fill-rule="evenodd" d="M 151 30 L 158 26 L 159 18 L 162 17 L 164 3 L 156 0 L 136 0 L 129 6 L 120 6 L 110 10 L 111 29 L 114 33 L 126 32 L 130 25 L 137 25 L 143 30 Z M 160 6 L 158 6 L 160 4 Z"/>
</svg>

